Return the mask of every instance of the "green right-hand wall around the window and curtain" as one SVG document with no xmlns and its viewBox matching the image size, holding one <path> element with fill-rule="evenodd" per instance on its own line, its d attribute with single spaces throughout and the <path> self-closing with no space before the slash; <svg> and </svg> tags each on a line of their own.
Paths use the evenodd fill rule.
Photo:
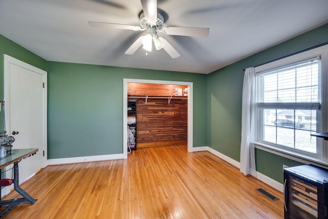
<svg viewBox="0 0 328 219">
<path fill-rule="evenodd" d="M 208 146 L 240 161 L 243 69 L 325 42 L 328 42 L 328 24 L 209 74 L 207 77 Z M 298 163 L 256 150 L 257 171 L 281 183 L 282 164 L 297 165 Z"/>
</svg>

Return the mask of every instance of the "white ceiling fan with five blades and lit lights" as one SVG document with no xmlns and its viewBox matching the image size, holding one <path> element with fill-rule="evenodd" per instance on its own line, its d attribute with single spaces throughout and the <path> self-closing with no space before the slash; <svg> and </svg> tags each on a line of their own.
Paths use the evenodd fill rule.
<svg viewBox="0 0 328 219">
<path fill-rule="evenodd" d="M 180 54 L 173 48 L 173 46 L 162 36 L 158 36 L 158 32 L 167 35 L 180 35 L 180 36 L 198 36 L 207 37 L 210 33 L 209 28 L 199 27 L 164 27 L 164 18 L 157 12 L 157 0 L 141 0 L 143 12 L 140 15 L 140 27 L 125 24 L 114 24 L 106 22 L 89 21 L 90 27 L 107 27 L 116 29 L 125 29 L 133 31 L 147 30 L 147 34 L 140 36 L 129 47 L 125 54 L 132 55 L 134 52 L 143 45 L 142 48 L 147 51 L 152 50 L 152 44 L 156 50 L 163 48 L 172 58 L 177 58 Z"/>
</svg>

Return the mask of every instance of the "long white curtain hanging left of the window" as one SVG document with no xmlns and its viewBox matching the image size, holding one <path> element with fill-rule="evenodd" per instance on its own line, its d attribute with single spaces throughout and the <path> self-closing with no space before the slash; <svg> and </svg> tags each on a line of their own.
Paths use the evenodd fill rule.
<svg viewBox="0 0 328 219">
<path fill-rule="evenodd" d="M 241 112 L 241 143 L 240 143 L 240 172 L 256 177 L 254 149 L 254 120 L 255 112 L 255 69 L 245 69 L 242 88 Z"/>
</svg>

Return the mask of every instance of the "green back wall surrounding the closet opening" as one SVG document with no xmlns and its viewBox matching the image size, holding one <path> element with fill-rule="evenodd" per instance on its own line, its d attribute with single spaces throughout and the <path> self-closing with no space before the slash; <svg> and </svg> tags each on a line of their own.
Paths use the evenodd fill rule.
<svg viewBox="0 0 328 219">
<path fill-rule="evenodd" d="M 123 78 L 193 82 L 193 146 L 206 146 L 206 77 L 49 62 L 48 158 L 123 152 Z"/>
</svg>

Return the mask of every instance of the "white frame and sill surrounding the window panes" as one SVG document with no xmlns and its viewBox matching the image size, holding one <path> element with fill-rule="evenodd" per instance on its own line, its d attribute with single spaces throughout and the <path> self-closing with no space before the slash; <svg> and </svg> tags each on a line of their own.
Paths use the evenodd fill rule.
<svg viewBox="0 0 328 219">
<path fill-rule="evenodd" d="M 308 51 L 304 51 L 298 54 L 294 54 L 285 58 L 278 59 L 277 61 L 263 64 L 255 67 L 255 72 L 268 71 L 270 69 L 277 68 L 279 66 L 286 66 L 304 59 L 308 59 L 314 56 L 321 56 L 321 132 L 328 132 L 328 45 L 324 45 L 318 48 L 314 48 Z M 261 139 L 262 127 L 261 118 L 258 118 L 259 123 L 256 125 L 255 147 L 264 151 L 268 151 L 283 157 L 290 158 L 292 160 L 302 162 L 305 164 L 316 164 L 319 166 L 328 165 L 328 141 L 324 141 L 323 138 L 317 138 L 317 142 L 320 141 L 321 148 L 317 148 L 319 155 L 306 153 L 298 150 L 289 149 L 284 146 L 277 146 L 275 144 L 265 143 L 259 141 Z"/>
</svg>

